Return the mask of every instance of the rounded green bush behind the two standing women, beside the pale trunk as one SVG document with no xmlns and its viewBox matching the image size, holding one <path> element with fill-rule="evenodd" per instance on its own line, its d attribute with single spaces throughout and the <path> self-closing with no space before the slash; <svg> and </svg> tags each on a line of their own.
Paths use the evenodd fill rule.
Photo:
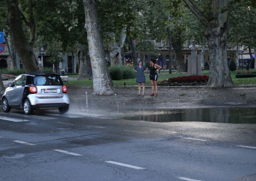
<svg viewBox="0 0 256 181">
<path fill-rule="evenodd" d="M 111 65 L 109 67 L 109 74 L 112 80 L 131 79 L 136 77 L 133 72 L 133 67 L 124 65 Z"/>
</svg>

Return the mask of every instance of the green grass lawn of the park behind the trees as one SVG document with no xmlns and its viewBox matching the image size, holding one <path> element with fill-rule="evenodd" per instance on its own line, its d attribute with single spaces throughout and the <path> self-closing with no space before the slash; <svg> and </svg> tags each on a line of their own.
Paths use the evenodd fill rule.
<svg viewBox="0 0 256 181">
<path fill-rule="evenodd" d="M 256 77 L 251 77 L 251 78 L 236 78 L 236 73 L 237 71 L 241 70 L 236 70 L 233 72 L 230 72 L 231 78 L 233 80 L 233 83 L 235 85 L 256 85 Z M 246 71 L 246 70 L 244 70 Z M 251 71 L 254 71 L 254 69 L 251 69 Z M 208 70 L 203 70 L 202 75 L 209 75 Z M 76 76 L 76 75 L 73 75 Z M 160 80 L 165 80 L 171 77 L 179 77 L 179 76 L 187 76 L 187 74 L 176 74 L 175 71 L 172 72 L 172 74 L 169 74 L 168 71 L 160 71 L 160 74 L 158 73 L 158 81 Z M 146 77 L 146 86 L 150 86 L 150 81 L 149 81 L 149 73 L 145 73 Z M 138 84 L 136 83 L 136 78 L 133 79 L 125 79 L 125 80 L 114 80 L 113 84 L 115 88 L 123 88 L 124 87 L 124 82 L 127 85 L 126 88 L 136 88 Z M 88 87 L 92 88 L 93 87 L 93 82 L 92 80 L 69 80 L 68 81 L 70 87 Z"/>
</svg>

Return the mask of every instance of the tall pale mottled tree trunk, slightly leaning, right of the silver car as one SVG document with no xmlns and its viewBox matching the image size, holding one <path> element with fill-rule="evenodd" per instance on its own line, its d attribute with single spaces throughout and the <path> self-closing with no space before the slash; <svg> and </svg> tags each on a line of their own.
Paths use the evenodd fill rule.
<svg viewBox="0 0 256 181">
<path fill-rule="evenodd" d="M 85 28 L 87 31 L 89 54 L 92 64 L 93 94 L 113 95 L 115 89 L 105 60 L 96 1 L 83 0 L 83 2 L 85 12 Z"/>
</svg>

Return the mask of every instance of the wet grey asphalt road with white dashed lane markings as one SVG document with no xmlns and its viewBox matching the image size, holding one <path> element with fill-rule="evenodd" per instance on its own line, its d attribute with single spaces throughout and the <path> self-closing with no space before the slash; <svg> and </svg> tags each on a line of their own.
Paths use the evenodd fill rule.
<svg viewBox="0 0 256 181">
<path fill-rule="evenodd" d="M 12 111 L 0 145 L 1 181 L 256 180 L 256 124 Z"/>
</svg>

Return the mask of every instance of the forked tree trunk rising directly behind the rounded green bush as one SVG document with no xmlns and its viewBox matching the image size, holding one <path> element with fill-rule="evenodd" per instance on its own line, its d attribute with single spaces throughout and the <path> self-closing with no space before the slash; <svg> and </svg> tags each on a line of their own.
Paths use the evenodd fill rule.
<svg viewBox="0 0 256 181">
<path fill-rule="evenodd" d="M 113 39 L 113 42 L 108 44 L 108 51 L 110 53 L 111 65 L 120 64 L 122 65 L 122 57 L 121 57 L 121 48 L 124 46 L 124 41 L 126 37 L 126 28 L 121 30 L 120 40 L 115 42 L 115 35 L 110 33 L 110 36 Z"/>
</svg>

